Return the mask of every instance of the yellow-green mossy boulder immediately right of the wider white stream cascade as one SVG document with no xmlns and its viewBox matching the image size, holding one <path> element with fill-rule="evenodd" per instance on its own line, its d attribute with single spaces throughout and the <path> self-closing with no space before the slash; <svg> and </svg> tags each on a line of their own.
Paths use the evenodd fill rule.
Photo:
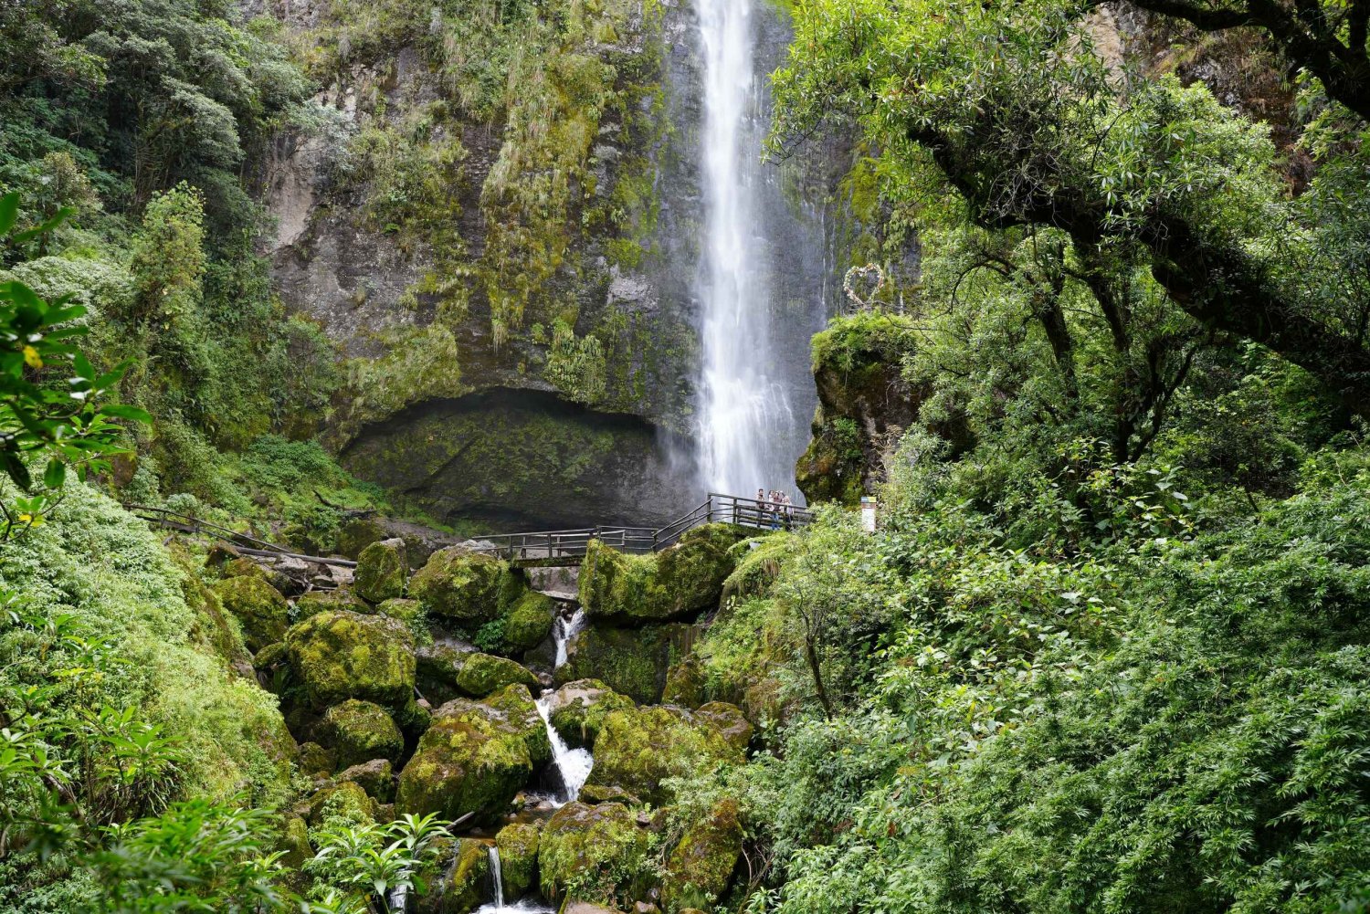
<svg viewBox="0 0 1370 914">
<path fill-rule="evenodd" d="M 595 739 L 590 782 L 618 787 L 653 804 L 670 802 L 662 781 L 707 771 L 745 754 L 722 733 L 678 707 L 614 711 Z"/>
</svg>

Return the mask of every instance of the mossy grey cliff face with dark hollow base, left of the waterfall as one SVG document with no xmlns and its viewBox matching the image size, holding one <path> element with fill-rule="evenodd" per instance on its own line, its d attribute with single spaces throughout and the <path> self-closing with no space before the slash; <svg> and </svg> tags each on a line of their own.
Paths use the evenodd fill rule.
<svg viewBox="0 0 1370 914">
<path fill-rule="evenodd" d="M 245 7 L 282 23 L 322 88 L 273 151 L 269 254 L 285 306 L 348 359 L 326 437 L 349 467 L 449 517 L 584 522 L 601 518 L 577 506 L 614 492 L 664 514 L 688 500 L 667 445 L 697 363 L 689 4 Z M 475 440 L 496 419 L 521 460 L 545 440 L 534 467 L 597 473 L 533 499 L 511 484 L 533 477 Z M 473 448 L 484 466 L 453 460 Z"/>
</svg>

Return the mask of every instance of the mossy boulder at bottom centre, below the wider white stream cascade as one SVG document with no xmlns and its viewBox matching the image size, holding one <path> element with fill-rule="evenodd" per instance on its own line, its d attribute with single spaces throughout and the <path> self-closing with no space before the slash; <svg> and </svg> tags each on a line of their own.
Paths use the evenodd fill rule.
<svg viewBox="0 0 1370 914">
<path fill-rule="evenodd" d="M 648 844 L 647 829 L 622 803 L 567 803 L 543 828 L 538 885 L 552 900 L 573 882 L 578 900 L 645 898 L 652 881 Z"/>
</svg>

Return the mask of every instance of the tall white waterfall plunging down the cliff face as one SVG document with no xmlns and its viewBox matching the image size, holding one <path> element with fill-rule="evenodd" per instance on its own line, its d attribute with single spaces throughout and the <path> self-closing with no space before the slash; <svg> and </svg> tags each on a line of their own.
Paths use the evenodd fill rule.
<svg viewBox="0 0 1370 914">
<path fill-rule="evenodd" d="M 704 52 L 700 465 L 715 492 L 789 489 L 795 411 L 775 370 L 758 207 L 763 106 L 754 75 L 755 0 L 695 1 Z"/>
</svg>

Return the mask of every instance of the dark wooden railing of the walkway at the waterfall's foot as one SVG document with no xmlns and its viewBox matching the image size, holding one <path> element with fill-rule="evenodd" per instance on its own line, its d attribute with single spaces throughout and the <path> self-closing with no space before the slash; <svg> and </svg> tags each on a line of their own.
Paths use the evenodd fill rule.
<svg viewBox="0 0 1370 914">
<path fill-rule="evenodd" d="M 588 526 L 574 530 L 538 530 L 533 533 L 496 533 L 480 537 L 477 551 L 527 565 L 558 565 L 580 559 L 590 540 L 599 540 L 622 552 L 647 555 L 675 544 L 704 523 L 732 523 L 758 530 L 796 529 L 814 521 L 812 511 L 795 506 L 774 506 L 756 499 L 711 492 L 699 507 L 663 528 Z"/>
</svg>

